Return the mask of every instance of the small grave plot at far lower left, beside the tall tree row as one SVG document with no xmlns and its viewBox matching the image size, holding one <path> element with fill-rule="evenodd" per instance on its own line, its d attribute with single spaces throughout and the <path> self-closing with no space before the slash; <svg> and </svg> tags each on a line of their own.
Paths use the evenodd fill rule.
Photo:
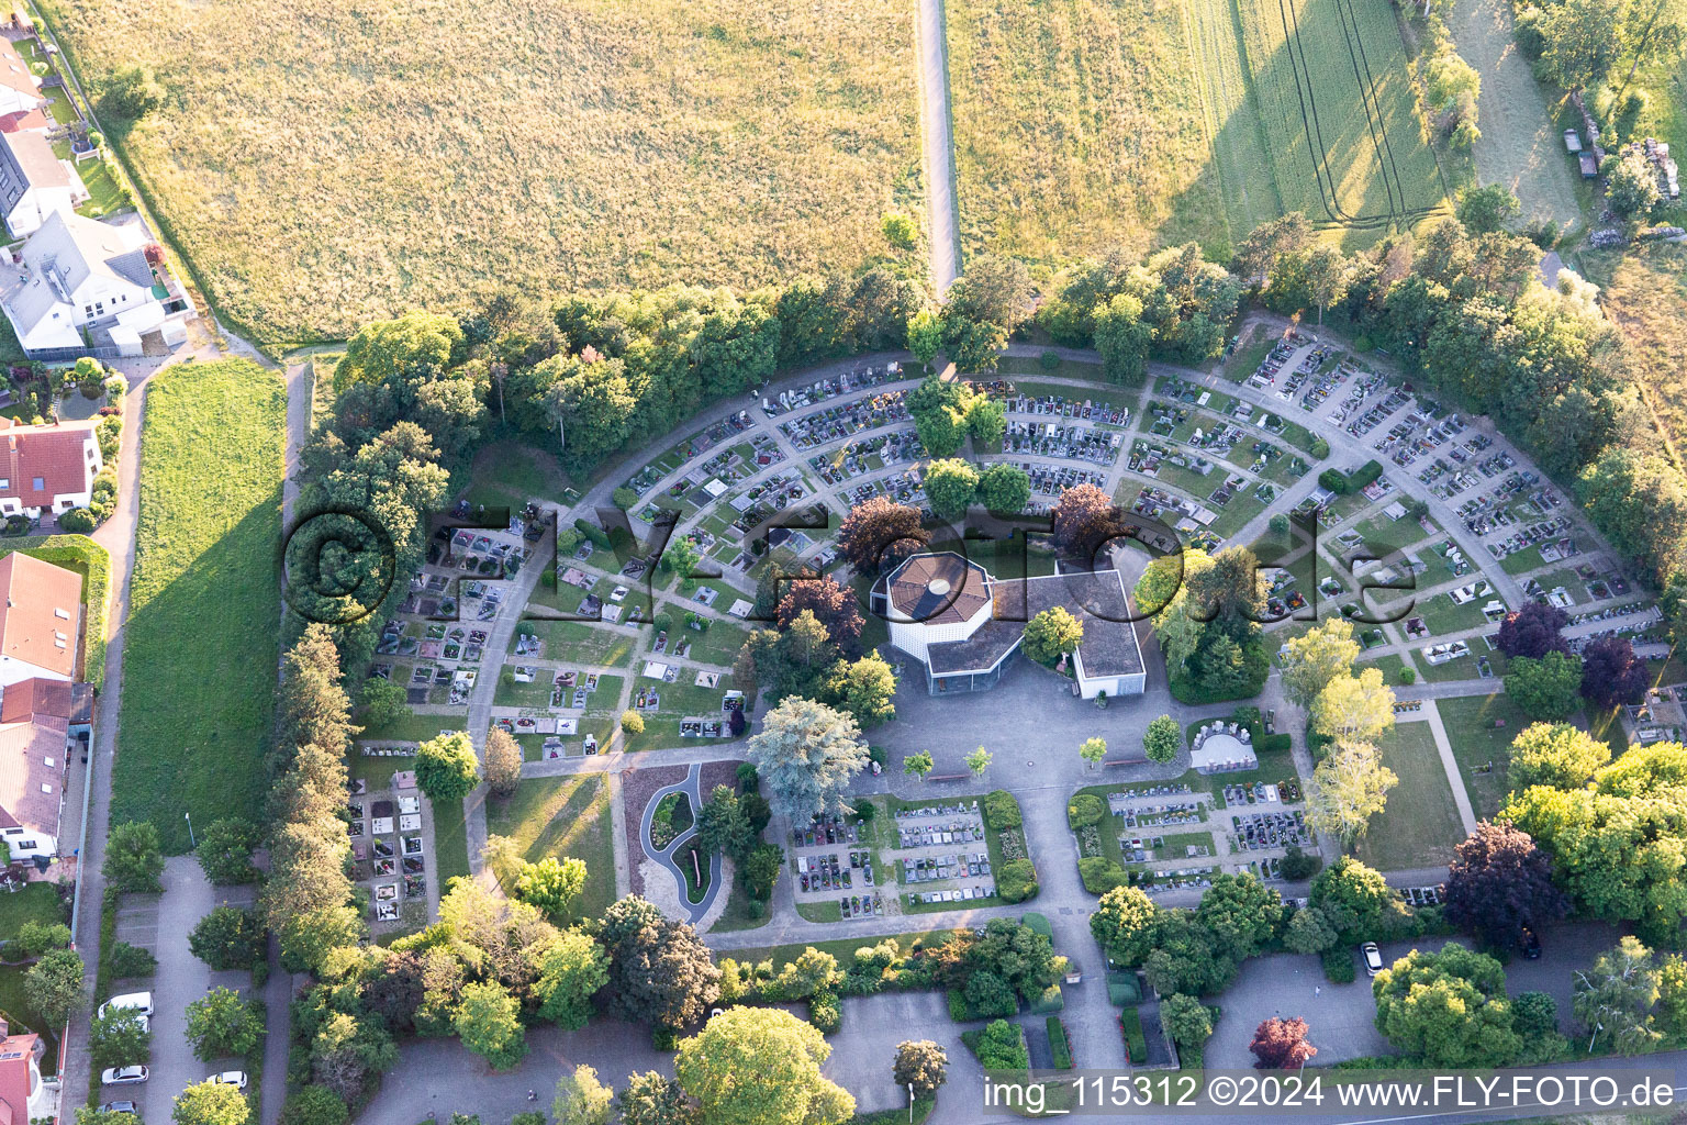
<svg viewBox="0 0 1687 1125">
<path fill-rule="evenodd" d="M 403 921 L 400 911 L 407 902 L 427 907 L 432 833 L 423 828 L 413 771 L 395 772 L 390 788 L 373 793 L 363 778 L 353 779 L 346 833 L 351 837 L 353 882 L 369 891 L 371 921 Z"/>
</svg>

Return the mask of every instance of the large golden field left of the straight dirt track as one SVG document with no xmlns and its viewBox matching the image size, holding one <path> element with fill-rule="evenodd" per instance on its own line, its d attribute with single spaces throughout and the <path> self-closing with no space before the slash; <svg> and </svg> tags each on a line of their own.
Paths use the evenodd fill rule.
<svg viewBox="0 0 1687 1125">
<path fill-rule="evenodd" d="M 461 5 L 46 0 L 221 312 L 260 341 L 509 285 L 756 285 L 923 216 L 913 12 L 892 0 Z"/>
</svg>

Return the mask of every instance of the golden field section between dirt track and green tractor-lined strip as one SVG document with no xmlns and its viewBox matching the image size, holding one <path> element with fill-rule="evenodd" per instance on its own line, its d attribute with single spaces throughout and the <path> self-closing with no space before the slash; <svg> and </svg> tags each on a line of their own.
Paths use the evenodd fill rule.
<svg viewBox="0 0 1687 1125">
<path fill-rule="evenodd" d="M 950 0 L 945 13 L 967 253 L 1228 250 L 1183 0 Z"/>
</svg>

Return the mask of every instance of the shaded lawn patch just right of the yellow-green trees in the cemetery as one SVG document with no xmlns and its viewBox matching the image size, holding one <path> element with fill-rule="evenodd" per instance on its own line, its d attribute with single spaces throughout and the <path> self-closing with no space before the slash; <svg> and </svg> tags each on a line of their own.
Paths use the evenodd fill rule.
<svg viewBox="0 0 1687 1125">
<path fill-rule="evenodd" d="M 1377 740 L 1383 764 L 1400 778 L 1388 806 L 1372 818 L 1358 857 L 1377 870 L 1431 867 L 1453 859 L 1464 838 L 1453 789 L 1427 722 L 1404 722 Z"/>
</svg>

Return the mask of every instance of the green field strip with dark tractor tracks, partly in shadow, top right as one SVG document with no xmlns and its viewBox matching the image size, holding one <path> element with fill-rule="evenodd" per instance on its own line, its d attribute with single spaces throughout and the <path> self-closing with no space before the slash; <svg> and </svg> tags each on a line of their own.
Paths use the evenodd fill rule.
<svg viewBox="0 0 1687 1125">
<path fill-rule="evenodd" d="M 1410 224 L 1446 184 L 1387 3 L 1235 0 L 1284 207 L 1350 228 Z"/>
</svg>

